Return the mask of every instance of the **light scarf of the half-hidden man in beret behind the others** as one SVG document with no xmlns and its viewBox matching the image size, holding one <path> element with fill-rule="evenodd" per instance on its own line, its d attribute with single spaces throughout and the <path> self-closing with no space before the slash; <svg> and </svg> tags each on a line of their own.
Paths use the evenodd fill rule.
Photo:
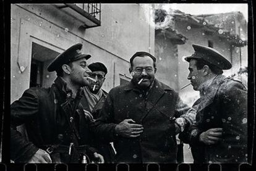
<svg viewBox="0 0 256 171">
<path fill-rule="evenodd" d="M 90 111 L 92 112 L 93 108 L 100 100 L 103 91 L 100 89 L 97 94 L 93 94 L 87 86 L 83 87 L 83 93 L 85 94 L 85 98 L 87 99 L 88 105 L 90 107 Z"/>
</svg>

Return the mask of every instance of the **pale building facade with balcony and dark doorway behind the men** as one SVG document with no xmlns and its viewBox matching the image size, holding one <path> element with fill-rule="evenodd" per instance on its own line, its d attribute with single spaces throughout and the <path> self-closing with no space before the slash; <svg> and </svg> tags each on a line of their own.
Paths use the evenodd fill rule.
<svg viewBox="0 0 256 171">
<path fill-rule="evenodd" d="M 30 86 L 50 86 L 56 73 L 48 64 L 75 43 L 92 55 L 88 63 L 108 67 L 104 90 L 126 83 L 130 56 L 154 54 L 151 15 L 143 4 L 12 4 L 11 102 Z"/>
</svg>

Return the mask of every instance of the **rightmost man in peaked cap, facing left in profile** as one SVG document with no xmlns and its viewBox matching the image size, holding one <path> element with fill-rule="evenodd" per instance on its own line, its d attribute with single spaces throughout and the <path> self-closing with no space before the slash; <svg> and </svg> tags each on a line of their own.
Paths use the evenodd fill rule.
<svg viewBox="0 0 256 171">
<path fill-rule="evenodd" d="M 240 81 L 226 78 L 231 63 L 213 48 L 192 45 L 186 57 L 191 85 L 200 91 L 194 103 L 196 123 L 187 143 L 195 163 L 247 162 L 247 89 Z"/>
</svg>

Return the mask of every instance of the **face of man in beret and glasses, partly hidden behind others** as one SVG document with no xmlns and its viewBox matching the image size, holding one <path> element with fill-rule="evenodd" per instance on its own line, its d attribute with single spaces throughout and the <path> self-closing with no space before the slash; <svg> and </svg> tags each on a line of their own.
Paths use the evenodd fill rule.
<svg viewBox="0 0 256 171">
<path fill-rule="evenodd" d="M 103 83 L 105 81 L 105 72 L 93 71 L 91 74 L 91 77 L 94 78 L 96 80 L 96 82 L 89 80 L 90 85 L 88 86 L 88 88 L 92 93 L 98 93 L 98 91 L 100 90 L 101 86 L 103 85 Z M 94 86 L 95 86 L 95 88 L 93 90 Z"/>
</svg>

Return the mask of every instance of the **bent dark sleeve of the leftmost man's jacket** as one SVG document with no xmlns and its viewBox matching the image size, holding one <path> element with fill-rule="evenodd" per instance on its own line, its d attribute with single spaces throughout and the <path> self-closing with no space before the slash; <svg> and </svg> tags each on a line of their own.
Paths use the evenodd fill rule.
<svg viewBox="0 0 256 171">
<path fill-rule="evenodd" d="M 38 112 L 38 90 L 26 90 L 22 97 L 11 104 L 11 159 L 14 162 L 27 162 L 36 153 L 38 148 L 30 141 L 27 141 L 16 127 L 23 123 L 30 122 Z"/>
</svg>

